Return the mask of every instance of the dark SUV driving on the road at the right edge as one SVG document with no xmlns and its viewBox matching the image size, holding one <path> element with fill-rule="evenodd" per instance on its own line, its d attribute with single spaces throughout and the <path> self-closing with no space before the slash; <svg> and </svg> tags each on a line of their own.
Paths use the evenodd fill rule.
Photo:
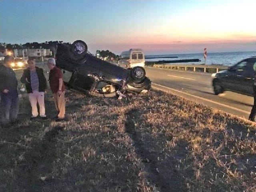
<svg viewBox="0 0 256 192">
<path fill-rule="evenodd" d="M 214 94 L 218 95 L 225 90 L 253 95 L 253 85 L 255 78 L 256 57 L 244 59 L 228 70 L 220 71 L 212 76 L 212 86 Z"/>
</svg>

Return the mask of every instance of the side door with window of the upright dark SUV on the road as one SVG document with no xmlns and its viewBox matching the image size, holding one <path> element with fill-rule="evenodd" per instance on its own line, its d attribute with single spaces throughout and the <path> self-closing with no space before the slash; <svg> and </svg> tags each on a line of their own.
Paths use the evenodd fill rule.
<svg viewBox="0 0 256 192">
<path fill-rule="evenodd" d="M 253 64 L 250 60 L 244 60 L 234 68 L 233 87 L 235 91 L 243 94 L 251 94 L 253 92 Z"/>
</svg>

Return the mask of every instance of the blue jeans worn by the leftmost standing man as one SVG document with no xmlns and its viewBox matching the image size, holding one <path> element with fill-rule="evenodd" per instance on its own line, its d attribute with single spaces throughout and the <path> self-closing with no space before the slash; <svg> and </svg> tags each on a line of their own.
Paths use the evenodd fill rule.
<svg viewBox="0 0 256 192">
<path fill-rule="evenodd" d="M 11 90 L 7 94 L 1 93 L 1 123 L 8 124 L 17 118 L 19 111 L 18 92 Z"/>
</svg>

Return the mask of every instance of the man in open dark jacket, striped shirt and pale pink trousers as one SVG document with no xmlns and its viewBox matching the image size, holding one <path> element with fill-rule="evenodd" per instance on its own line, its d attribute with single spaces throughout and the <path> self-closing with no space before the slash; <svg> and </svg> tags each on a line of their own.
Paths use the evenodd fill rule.
<svg viewBox="0 0 256 192">
<path fill-rule="evenodd" d="M 40 108 L 40 117 L 44 120 L 47 119 L 44 106 L 44 91 L 47 87 L 47 81 L 43 69 L 36 67 L 34 59 L 28 60 L 28 68 L 24 70 L 20 81 L 26 85 L 28 98 L 32 107 L 30 120 L 38 116 L 37 103 Z"/>
</svg>

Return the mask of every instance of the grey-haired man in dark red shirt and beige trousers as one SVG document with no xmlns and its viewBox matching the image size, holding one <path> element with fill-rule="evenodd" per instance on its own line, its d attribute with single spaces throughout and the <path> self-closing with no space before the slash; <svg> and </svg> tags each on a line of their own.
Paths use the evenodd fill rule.
<svg viewBox="0 0 256 192">
<path fill-rule="evenodd" d="M 56 67 L 54 58 L 48 59 L 47 66 L 50 69 L 50 88 L 52 90 L 55 106 L 58 111 L 56 121 L 62 121 L 65 118 L 65 85 L 63 82 L 63 74 L 61 70 Z"/>
</svg>

